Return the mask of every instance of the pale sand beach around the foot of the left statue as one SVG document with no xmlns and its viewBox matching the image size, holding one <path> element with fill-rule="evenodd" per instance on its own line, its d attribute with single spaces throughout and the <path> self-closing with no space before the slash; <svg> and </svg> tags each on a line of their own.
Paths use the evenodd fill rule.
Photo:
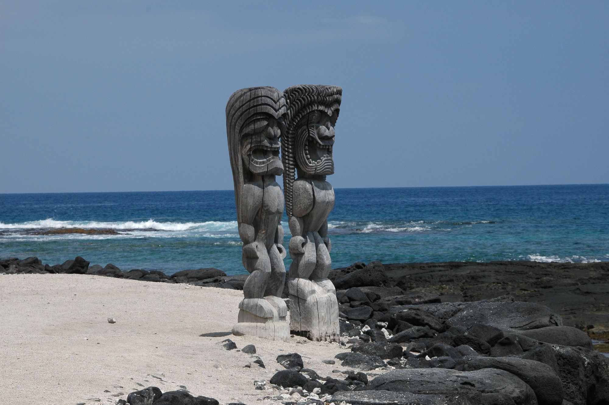
<svg viewBox="0 0 609 405">
<path fill-rule="evenodd" d="M 294 352 L 305 367 L 332 375 L 336 366 L 322 360 L 345 351 L 337 343 L 200 336 L 230 333 L 241 298 L 241 291 L 188 284 L 2 275 L 0 404 L 116 404 L 147 386 L 251 404 L 266 393 L 253 381 L 268 381 L 283 369 L 276 356 Z M 227 338 L 239 349 L 253 343 L 266 369 L 244 368 L 252 357 L 222 348 Z"/>
</svg>

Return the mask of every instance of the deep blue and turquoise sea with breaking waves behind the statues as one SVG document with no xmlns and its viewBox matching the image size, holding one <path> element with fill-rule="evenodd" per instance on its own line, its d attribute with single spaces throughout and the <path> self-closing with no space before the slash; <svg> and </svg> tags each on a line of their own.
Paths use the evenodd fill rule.
<svg viewBox="0 0 609 405">
<path fill-rule="evenodd" d="M 62 227 L 118 234 L 43 234 Z M 609 185 L 336 189 L 329 228 L 335 268 L 609 261 Z M 9 256 L 245 273 L 233 191 L 0 194 L 0 258 Z"/>
</svg>

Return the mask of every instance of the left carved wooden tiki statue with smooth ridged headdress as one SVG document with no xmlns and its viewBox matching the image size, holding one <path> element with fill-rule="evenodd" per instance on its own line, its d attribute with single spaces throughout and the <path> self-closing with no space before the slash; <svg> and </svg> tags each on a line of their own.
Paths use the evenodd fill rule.
<svg viewBox="0 0 609 405">
<path fill-rule="evenodd" d="M 279 158 L 283 112 L 284 99 L 273 87 L 238 90 L 226 109 L 242 262 L 250 272 L 233 334 L 273 340 L 290 336 L 286 304 L 281 300 L 286 277 L 281 245 L 284 200 L 275 181 L 283 174 Z"/>
</svg>

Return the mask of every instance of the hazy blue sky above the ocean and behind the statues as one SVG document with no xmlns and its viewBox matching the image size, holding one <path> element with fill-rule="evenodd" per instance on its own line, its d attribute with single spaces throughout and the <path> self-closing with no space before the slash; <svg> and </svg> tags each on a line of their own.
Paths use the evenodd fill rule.
<svg viewBox="0 0 609 405">
<path fill-rule="evenodd" d="M 609 183 L 609 2 L 0 2 L 0 192 L 231 189 L 239 88 L 343 88 L 334 187 Z"/>
</svg>

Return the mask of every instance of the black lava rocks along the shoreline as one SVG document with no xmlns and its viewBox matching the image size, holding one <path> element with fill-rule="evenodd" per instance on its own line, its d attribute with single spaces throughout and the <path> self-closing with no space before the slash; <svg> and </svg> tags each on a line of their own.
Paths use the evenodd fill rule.
<svg viewBox="0 0 609 405">
<path fill-rule="evenodd" d="M 0 261 L 0 267 L 9 274 L 83 273 L 230 289 L 239 289 L 245 278 L 218 269 L 171 276 L 124 272 L 89 266 L 83 258 L 55 266 L 13 258 Z M 609 403 L 609 359 L 593 350 L 588 336 L 607 334 L 609 263 L 371 262 L 336 269 L 331 279 L 341 343 L 350 351 L 324 361 L 337 365 L 334 376 L 326 377 L 305 368 L 297 353 L 278 356 L 285 370 L 269 381 L 253 381 L 264 392 L 261 400 L 284 405 Z M 239 350 L 230 343 L 225 350 Z M 132 393 L 130 404 L 217 403 L 185 392 L 146 390 L 149 395 Z"/>
</svg>

